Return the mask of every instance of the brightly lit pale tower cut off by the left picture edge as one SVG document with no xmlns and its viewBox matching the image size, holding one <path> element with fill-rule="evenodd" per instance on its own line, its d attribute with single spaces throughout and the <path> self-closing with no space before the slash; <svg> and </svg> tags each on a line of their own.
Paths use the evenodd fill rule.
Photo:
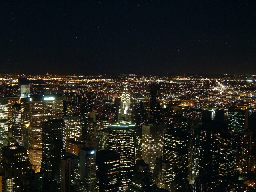
<svg viewBox="0 0 256 192">
<path fill-rule="evenodd" d="M 0 146 L 4 138 L 8 137 L 8 100 L 0 98 Z"/>
</svg>

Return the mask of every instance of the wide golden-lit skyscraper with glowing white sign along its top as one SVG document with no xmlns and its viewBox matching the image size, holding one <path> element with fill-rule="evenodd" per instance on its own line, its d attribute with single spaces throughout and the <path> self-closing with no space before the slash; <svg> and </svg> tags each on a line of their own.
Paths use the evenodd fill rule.
<svg viewBox="0 0 256 192">
<path fill-rule="evenodd" d="M 29 107 L 29 158 L 34 166 L 41 167 L 42 122 L 63 118 L 63 98 L 58 95 L 33 95 Z"/>
</svg>

